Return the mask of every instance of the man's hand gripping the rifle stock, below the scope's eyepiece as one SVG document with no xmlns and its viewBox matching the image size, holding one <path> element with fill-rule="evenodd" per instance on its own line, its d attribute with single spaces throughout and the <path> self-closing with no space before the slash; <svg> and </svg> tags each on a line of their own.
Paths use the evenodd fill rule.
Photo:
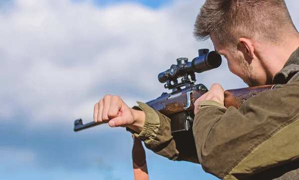
<svg viewBox="0 0 299 180">
<path fill-rule="evenodd" d="M 196 114 L 200 109 L 200 106 L 197 104 L 203 100 L 214 100 L 224 105 L 224 90 L 221 85 L 213 84 L 208 92 L 196 99 L 194 102 L 194 114 Z"/>
</svg>

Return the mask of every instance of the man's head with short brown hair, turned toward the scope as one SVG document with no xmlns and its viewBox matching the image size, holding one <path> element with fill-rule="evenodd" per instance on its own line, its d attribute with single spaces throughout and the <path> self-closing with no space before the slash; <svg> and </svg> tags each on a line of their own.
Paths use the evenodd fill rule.
<svg viewBox="0 0 299 180">
<path fill-rule="evenodd" d="M 215 50 L 228 60 L 230 71 L 257 86 L 271 83 L 267 73 L 260 72 L 265 61 L 262 49 L 286 46 L 286 37 L 298 37 L 298 31 L 284 0 L 206 0 L 194 36 L 210 37 Z"/>
</svg>

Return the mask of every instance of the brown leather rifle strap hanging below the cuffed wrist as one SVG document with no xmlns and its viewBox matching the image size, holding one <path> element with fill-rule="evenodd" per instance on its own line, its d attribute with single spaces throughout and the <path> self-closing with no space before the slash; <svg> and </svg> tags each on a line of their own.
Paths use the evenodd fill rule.
<svg viewBox="0 0 299 180">
<path fill-rule="evenodd" d="M 135 180 L 149 180 L 146 151 L 139 138 L 133 135 L 133 139 L 132 159 Z"/>
</svg>

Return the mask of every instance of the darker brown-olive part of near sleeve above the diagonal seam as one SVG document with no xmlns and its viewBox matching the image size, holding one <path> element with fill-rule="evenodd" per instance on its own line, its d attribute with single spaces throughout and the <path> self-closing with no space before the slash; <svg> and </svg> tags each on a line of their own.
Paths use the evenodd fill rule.
<svg viewBox="0 0 299 180">
<path fill-rule="evenodd" d="M 206 172 L 222 179 L 261 143 L 297 120 L 298 114 L 299 81 L 262 92 L 239 110 L 201 108 L 193 123 L 199 162 Z"/>
</svg>

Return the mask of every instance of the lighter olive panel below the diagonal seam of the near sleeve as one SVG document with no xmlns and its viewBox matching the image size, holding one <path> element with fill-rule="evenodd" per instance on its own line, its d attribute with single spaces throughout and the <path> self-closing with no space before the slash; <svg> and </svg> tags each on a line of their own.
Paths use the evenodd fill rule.
<svg viewBox="0 0 299 180">
<path fill-rule="evenodd" d="M 298 119 L 298 116 L 295 117 Z M 223 180 L 237 180 L 246 174 L 259 173 L 286 160 L 299 159 L 299 120 L 287 125 L 255 148 Z M 288 141 L 286 141 L 288 139 Z M 292 142 L 292 143 L 290 143 Z"/>
</svg>

